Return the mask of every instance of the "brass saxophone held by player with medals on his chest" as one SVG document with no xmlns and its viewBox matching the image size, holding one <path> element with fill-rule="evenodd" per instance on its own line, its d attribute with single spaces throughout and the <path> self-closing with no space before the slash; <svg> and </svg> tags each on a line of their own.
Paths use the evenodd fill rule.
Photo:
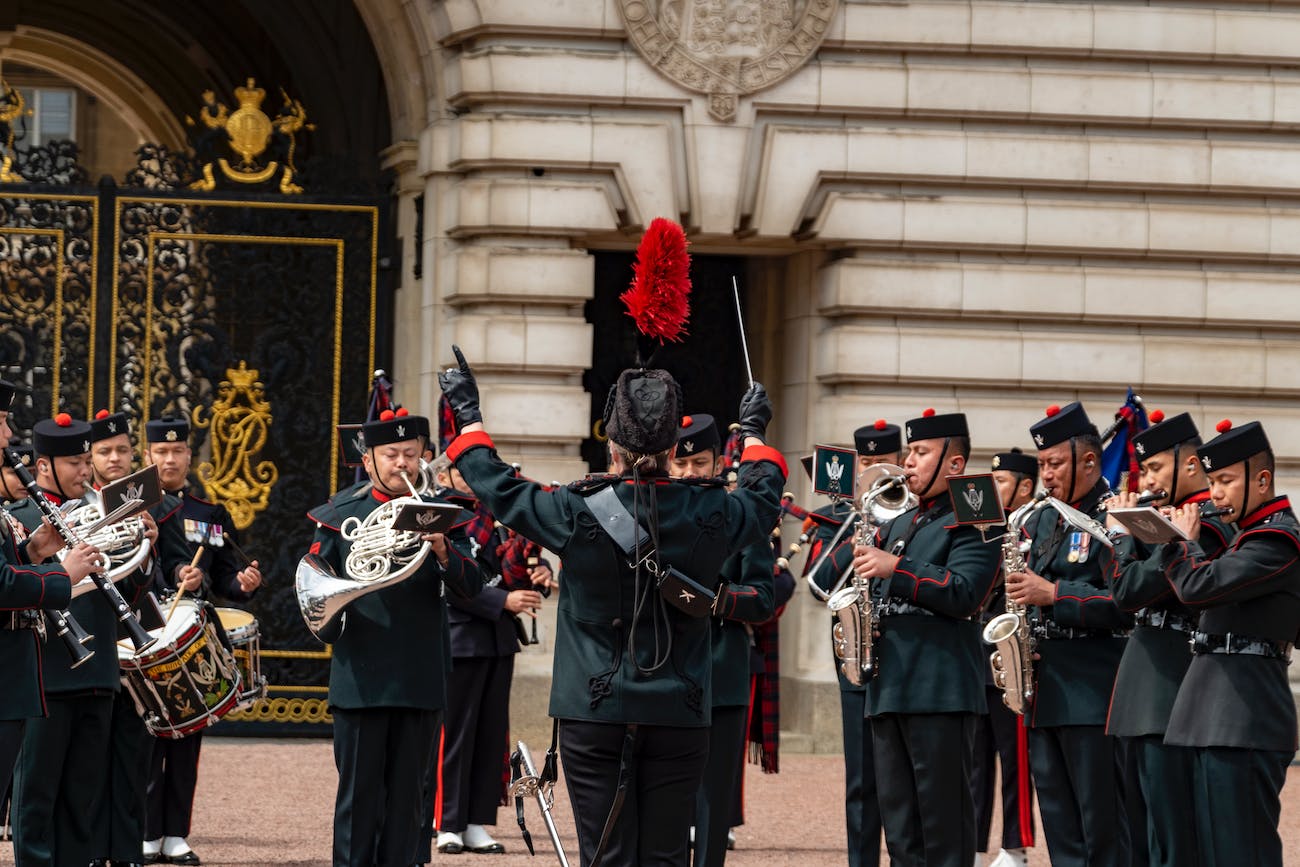
<svg viewBox="0 0 1300 867">
<path fill-rule="evenodd" d="M 1006 532 L 1002 534 L 1002 582 L 1013 572 L 1024 571 L 1024 552 L 1030 550 L 1030 539 L 1022 538 L 1022 530 L 1030 516 L 1046 504 L 1046 493 L 1040 493 L 1006 519 Z M 989 658 L 993 669 L 993 684 L 1002 690 L 1002 703 L 1011 712 L 1024 715 L 1034 698 L 1034 636 L 1030 634 L 1030 617 L 1026 606 L 1006 595 L 1006 614 L 1000 614 L 984 627 L 984 643 L 993 645 Z"/>
</svg>

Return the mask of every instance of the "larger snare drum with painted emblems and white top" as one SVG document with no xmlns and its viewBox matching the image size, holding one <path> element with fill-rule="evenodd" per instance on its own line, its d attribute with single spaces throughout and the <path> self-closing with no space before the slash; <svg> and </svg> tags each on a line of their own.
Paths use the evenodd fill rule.
<svg viewBox="0 0 1300 867">
<path fill-rule="evenodd" d="M 217 638 L 203 604 L 181 599 L 166 627 L 150 632 L 159 641 L 144 654 L 120 662 L 144 727 L 156 737 L 194 734 L 235 708 L 240 676 L 234 656 Z"/>
</svg>

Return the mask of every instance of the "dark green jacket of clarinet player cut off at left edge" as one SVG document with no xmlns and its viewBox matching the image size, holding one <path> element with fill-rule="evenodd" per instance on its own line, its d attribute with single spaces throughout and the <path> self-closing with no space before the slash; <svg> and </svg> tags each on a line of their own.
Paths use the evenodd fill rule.
<svg viewBox="0 0 1300 867">
<path fill-rule="evenodd" d="M 58 564 L 23 565 L 9 520 L 0 517 L 0 720 L 46 715 L 40 685 L 40 637 L 35 629 L 10 629 L 12 615 L 25 608 L 66 608 L 72 582 Z M 55 643 L 58 643 L 57 640 Z M 65 653 L 61 646 L 53 653 Z"/>
</svg>

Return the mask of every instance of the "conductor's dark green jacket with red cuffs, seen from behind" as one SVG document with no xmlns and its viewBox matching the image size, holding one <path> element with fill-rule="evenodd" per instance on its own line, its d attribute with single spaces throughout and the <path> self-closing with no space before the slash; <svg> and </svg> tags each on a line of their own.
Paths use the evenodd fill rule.
<svg viewBox="0 0 1300 867">
<path fill-rule="evenodd" d="M 731 554 L 767 543 L 785 481 L 780 452 L 767 446 L 746 448 L 740 485 L 732 493 L 718 480 L 666 476 L 642 478 L 640 485 L 603 476 L 545 490 L 515 477 L 481 432 L 458 437 L 447 456 L 500 523 L 563 560 L 550 715 L 598 723 L 708 725 L 710 619 L 690 617 L 663 603 L 653 588 L 646 590 L 651 578 L 644 569 L 638 594 L 629 558 L 588 510 L 586 497 L 612 485 L 628 511 L 633 511 L 633 498 L 645 503 L 653 497 L 660 563 L 707 584 L 720 575 Z M 638 519 L 649 530 L 647 516 L 649 508 L 641 507 Z M 644 601 L 640 614 L 634 612 L 638 599 Z M 667 662 L 646 672 L 656 654 Z"/>
</svg>

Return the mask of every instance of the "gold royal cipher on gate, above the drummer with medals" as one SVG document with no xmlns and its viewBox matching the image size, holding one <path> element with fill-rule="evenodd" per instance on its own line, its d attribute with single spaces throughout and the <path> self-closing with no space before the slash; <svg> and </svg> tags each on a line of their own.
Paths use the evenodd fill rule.
<svg viewBox="0 0 1300 867">
<path fill-rule="evenodd" d="M 199 464 L 199 481 L 209 497 L 226 507 L 239 530 L 247 529 L 257 512 L 266 508 L 270 489 L 280 480 L 280 471 L 269 460 L 254 467 L 270 432 L 265 389 L 257 370 L 240 361 L 238 368 L 226 369 L 226 378 L 217 386 L 212 417 L 202 417 L 202 406 L 192 413 L 195 428 L 212 426 L 212 461 Z"/>
</svg>

